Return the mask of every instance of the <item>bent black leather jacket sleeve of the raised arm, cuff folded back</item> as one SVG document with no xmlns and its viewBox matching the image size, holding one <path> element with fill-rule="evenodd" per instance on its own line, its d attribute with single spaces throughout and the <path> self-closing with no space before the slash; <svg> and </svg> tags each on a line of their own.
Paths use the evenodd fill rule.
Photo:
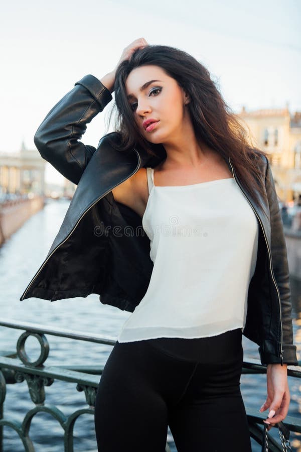
<svg viewBox="0 0 301 452">
<path fill-rule="evenodd" d="M 86 75 L 49 111 L 34 142 L 43 159 L 78 184 L 95 148 L 79 140 L 86 124 L 112 99 L 110 91 L 94 75 Z"/>
</svg>

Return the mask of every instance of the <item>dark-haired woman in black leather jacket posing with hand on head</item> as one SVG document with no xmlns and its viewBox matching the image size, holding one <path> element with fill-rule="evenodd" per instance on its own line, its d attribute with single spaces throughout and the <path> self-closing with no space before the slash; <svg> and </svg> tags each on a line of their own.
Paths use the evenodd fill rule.
<svg viewBox="0 0 301 452">
<path fill-rule="evenodd" d="M 132 311 L 96 395 L 102 452 L 164 450 L 168 425 L 179 452 L 251 450 L 242 333 L 267 365 L 269 428 L 287 414 L 287 364 L 297 364 L 268 160 L 185 52 L 138 39 L 101 81 L 87 77 L 35 136 L 78 187 L 21 300 L 99 293 Z M 118 133 L 83 145 L 113 90 Z M 147 237 L 131 234 L 141 224 Z"/>
</svg>

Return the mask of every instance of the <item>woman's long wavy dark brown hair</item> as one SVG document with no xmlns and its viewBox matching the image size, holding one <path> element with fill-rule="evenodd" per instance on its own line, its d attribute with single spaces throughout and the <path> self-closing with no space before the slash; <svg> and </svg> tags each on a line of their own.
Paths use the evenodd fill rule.
<svg viewBox="0 0 301 452">
<path fill-rule="evenodd" d="M 186 91 L 190 97 L 187 108 L 196 138 L 204 141 L 224 160 L 228 161 L 230 157 L 240 182 L 259 203 L 256 188 L 264 196 L 264 178 L 258 168 L 258 159 L 260 161 L 260 154 L 266 157 L 267 154 L 254 147 L 246 124 L 242 125 L 225 102 L 208 69 L 183 50 L 149 45 L 135 50 L 128 60 L 119 64 L 114 84 L 115 103 L 109 114 L 109 123 L 115 114 L 114 129 L 118 134 L 118 144 L 115 141 L 112 146 L 123 152 L 142 148 L 150 157 L 166 156 L 163 145 L 150 143 L 141 135 L 126 97 L 125 81 L 129 73 L 134 68 L 150 64 L 161 67 Z"/>
</svg>

